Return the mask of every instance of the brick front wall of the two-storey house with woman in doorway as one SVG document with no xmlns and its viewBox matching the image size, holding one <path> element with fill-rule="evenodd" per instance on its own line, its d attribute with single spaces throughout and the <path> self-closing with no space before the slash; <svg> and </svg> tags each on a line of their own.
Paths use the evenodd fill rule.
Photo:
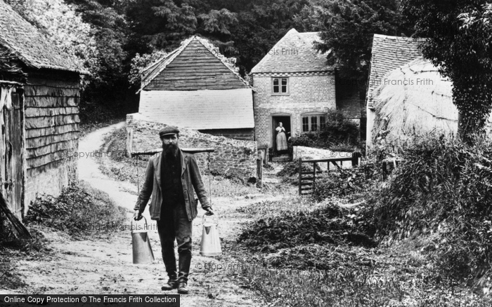
<svg viewBox="0 0 492 307">
<path fill-rule="evenodd" d="M 278 74 L 254 74 L 254 134 L 259 145 L 271 147 L 272 116 L 290 116 L 291 136 L 302 132 L 302 114 L 336 109 L 332 71 L 282 74 L 289 77 L 289 95 L 272 95 L 271 79 Z M 279 75 L 280 76 L 280 75 Z"/>
</svg>

